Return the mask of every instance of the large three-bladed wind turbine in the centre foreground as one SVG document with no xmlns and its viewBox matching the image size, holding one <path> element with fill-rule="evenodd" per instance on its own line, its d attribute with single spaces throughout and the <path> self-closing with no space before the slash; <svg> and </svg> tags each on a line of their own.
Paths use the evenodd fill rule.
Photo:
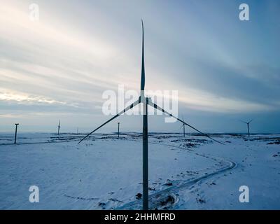
<svg viewBox="0 0 280 224">
<path fill-rule="evenodd" d="M 83 139 L 81 139 L 78 144 L 80 144 L 81 141 L 86 139 L 90 134 L 93 132 L 96 132 L 99 130 L 99 128 L 103 127 L 107 123 L 111 122 L 115 118 L 118 118 L 118 116 L 122 115 L 126 111 L 129 111 L 130 109 L 134 108 L 134 106 L 137 106 L 138 104 L 144 104 L 143 106 L 143 210 L 148 210 L 148 105 L 152 106 L 155 109 L 158 109 L 159 111 L 162 111 L 163 113 L 167 114 L 168 116 L 171 116 L 175 118 L 176 120 L 179 120 L 181 123 L 187 125 L 188 127 L 192 128 L 193 130 L 199 132 L 200 134 L 208 137 L 209 139 L 218 142 L 219 144 L 221 141 L 217 141 L 215 139 L 212 139 L 209 137 L 208 134 L 204 134 L 200 132 L 200 130 L 197 130 L 195 127 L 189 125 L 188 123 L 185 123 L 183 120 L 176 118 L 171 113 L 168 113 L 164 109 L 160 108 L 157 104 L 153 104 L 151 101 L 151 98 L 145 97 L 145 66 L 144 66 L 144 25 L 142 20 L 142 66 L 141 66 L 141 94 L 139 99 L 131 104 L 130 106 L 127 106 L 127 108 L 123 109 L 123 111 L 120 111 L 116 116 L 113 116 L 113 118 L 107 120 L 105 123 L 97 127 L 95 130 L 87 134 Z"/>
</svg>

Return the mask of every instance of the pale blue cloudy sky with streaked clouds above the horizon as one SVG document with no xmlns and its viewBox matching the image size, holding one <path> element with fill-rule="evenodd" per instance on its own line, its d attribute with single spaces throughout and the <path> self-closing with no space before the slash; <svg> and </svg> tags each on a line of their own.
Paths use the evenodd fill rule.
<svg viewBox="0 0 280 224">
<path fill-rule="evenodd" d="M 239 4 L 249 21 L 239 20 Z M 88 132 L 111 116 L 102 93 L 178 90 L 179 116 L 204 132 L 280 132 L 280 2 L 0 0 L 0 132 Z M 29 6 L 39 6 L 30 20 Z M 150 116 L 150 131 L 179 123 Z M 122 116 L 103 132 L 141 131 Z"/>
</svg>

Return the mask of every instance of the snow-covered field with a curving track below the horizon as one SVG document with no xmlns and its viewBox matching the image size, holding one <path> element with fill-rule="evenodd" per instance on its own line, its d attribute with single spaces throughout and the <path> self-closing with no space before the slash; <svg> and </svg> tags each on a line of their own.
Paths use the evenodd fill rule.
<svg viewBox="0 0 280 224">
<path fill-rule="evenodd" d="M 141 135 L 81 137 L 0 134 L 0 209 L 141 209 Z M 280 209 L 280 134 L 212 137 L 149 136 L 151 209 Z"/>
</svg>

